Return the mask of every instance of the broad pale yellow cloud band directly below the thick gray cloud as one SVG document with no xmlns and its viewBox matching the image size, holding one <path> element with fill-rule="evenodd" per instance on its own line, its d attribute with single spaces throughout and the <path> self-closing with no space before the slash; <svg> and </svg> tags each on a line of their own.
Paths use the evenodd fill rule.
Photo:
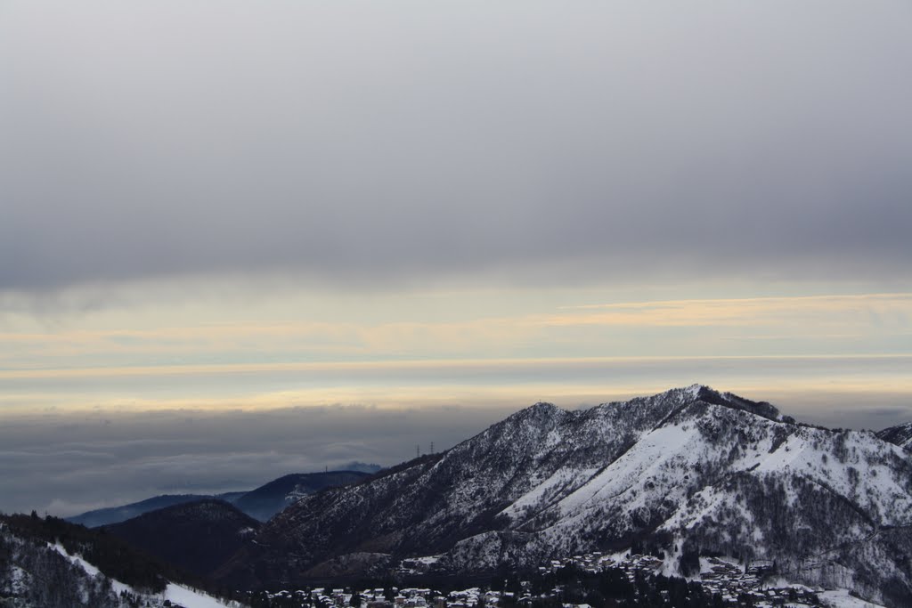
<svg viewBox="0 0 912 608">
<path fill-rule="evenodd" d="M 420 322 L 201 322 L 143 329 L 6 331 L 0 334 L 0 379 L 328 369 L 354 373 L 399 365 L 399 359 L 417 368 L 436 362 L 582 361 L 605 355 L 626 360 L 855 355 L 908 352 L 903 344 L 908 346 L 907 336 L 912 335 L 912 294 L 661 300 L 551 310 L 533 314 L 517 309 L 513 315 L 471 318 L 453 318 L 462 312 L 453 311 L 451 318 L 439 314 Z M 689 329 L 700 331 L 686 333 Z M 755 346 L 745 346 L 749 344 Z M 390 360 L 394 362 L 384 363 Z"/>
</svg>

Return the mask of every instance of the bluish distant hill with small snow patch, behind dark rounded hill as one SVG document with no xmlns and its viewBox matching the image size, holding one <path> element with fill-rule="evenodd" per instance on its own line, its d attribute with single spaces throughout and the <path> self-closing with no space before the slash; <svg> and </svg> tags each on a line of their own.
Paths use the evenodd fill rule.
<svg viewBox="0 0 912 608">
<path fill-rule="evenodd" d="M 265 521 L 307 494 L 355 483 L 368 477 L 368 473 L 353 470 L 292 473 L 247 492 L 235 500 L 234 505 L 251 517 Z"/>
</svg>

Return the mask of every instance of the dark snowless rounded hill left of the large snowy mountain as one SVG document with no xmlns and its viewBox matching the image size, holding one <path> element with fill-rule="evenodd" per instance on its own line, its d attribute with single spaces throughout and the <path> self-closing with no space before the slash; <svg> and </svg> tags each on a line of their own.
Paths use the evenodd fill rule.
<svg viewBox="0 0 912 608">
<path fill-rule="evenodd" d="M 185 572 L 207 577 L 260 522 L 223 500 L 199 500 L 143 513 L 102 530 Z"/>
</svg>

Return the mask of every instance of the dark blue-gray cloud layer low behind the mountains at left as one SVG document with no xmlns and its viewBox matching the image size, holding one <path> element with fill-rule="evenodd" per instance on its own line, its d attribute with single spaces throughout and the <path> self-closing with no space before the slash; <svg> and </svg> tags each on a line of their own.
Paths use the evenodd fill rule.
<svg viewBox="0 0 912 608">
<path fill-rule="evenodd" d="M 388 466 L 431 441 L 449 448 L 502 415 L 349 406 L 18 417 L 0 427 L 0 510 L 72 515 L 163 493 L 254 489 L 356 459 Z"/>
</svg>

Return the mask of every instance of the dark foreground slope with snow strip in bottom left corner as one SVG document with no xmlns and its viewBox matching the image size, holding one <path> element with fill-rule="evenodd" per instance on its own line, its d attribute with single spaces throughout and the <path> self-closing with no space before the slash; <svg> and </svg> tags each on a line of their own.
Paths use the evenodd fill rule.
<svg viewBox="0 0 912 608">
<path fill-rule="evenodd" d="M 0 515 L 0 605 L 241 608 L 113 536 L 34 512 Z"/>
</svg>

